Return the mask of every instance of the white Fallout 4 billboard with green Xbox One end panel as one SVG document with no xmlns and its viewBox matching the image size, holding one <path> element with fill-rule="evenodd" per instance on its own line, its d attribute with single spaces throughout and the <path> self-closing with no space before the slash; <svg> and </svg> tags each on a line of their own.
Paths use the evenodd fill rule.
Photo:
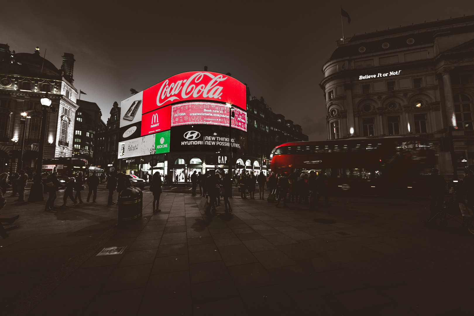
<svg viewBox="0 0 474 316">
<path fill-rule="evenodd" d="M 155 152 L 153 152 L 155 150 Z M 170 152 L 170 131 L 146 135 L 118 143 L 118 158 Z"/>
</svg>

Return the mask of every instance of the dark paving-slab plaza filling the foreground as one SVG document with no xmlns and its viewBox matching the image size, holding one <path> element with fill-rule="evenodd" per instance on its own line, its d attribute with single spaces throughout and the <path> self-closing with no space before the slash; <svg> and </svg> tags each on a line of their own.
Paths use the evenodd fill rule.
<svg viewBox="0 0 474 316">
<path fill-rule="evenodd" d="M 163 194 L 156 214 L 149 192 L 144 201 L 141 220 L 113 226 L 100 249 L 52 283 L 27 315 L 472 314 L 474 235 L 452 222 L 446 229 L 423 225 L 425 199 L 331 197 L 331 207 L 309 211 L 307 205 L 276 208 L 266 200 L 234 198 L 233 213 L 221 206 L 218 215 L 199 208 L 200 197 L 189 194 Z M 87 248 L 84 239 L 104 229 L 77 232 L 92 223 L 111 226 L 114 212 L 99 207 L 55 214 L 64 218 L 61 225 L 74 225 L 76 217 L 76 229 L 83 227 L 56 225 L 27 238 L 21 233 L 25 214 L 22 228 L 0 243 L 2 280 L 54 274 L 59 262 Z M 46 215 L 31 216 L 38 214 Z M 109 220 L 82 222 L 89 215 Z M 28 253 L 38 251 L 34 243 L 52 250 Z M 108 246 L 127 249 L 96 256 Z M 20 264 L 30 256 L 41 258 L 38 269 Z M 51 265 L 48 256 L 63 257 Z M 24 295 L 22 289 L 2 292 L 2 306 Z M 9 313 L 19 315 L 14 308 Z"/>
</svg>

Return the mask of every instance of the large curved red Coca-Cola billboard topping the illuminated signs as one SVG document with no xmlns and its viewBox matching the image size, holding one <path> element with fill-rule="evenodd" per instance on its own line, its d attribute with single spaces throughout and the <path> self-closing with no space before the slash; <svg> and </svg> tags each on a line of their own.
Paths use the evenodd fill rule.
<svg viewBox="0 0 474 316">
<path fill-rule="evenodd" d="M 142 112 L 190 100 L 230 103 L 245 110 L 246 86 L 217 72 L 183 72 L 144 90 Z"/>
</svg>

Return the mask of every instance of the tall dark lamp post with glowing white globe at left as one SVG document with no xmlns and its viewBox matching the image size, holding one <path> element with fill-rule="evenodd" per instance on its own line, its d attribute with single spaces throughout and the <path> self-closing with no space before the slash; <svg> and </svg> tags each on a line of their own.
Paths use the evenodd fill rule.
<svg viewBox="0 0 474 316">
<path fill-rule="evenodd" d="M 43 149 L 45 148 L 46 138 L 46 120 L 48 113 L 56 113 L 56 108 L 51 106 L 51 99 L 49 99 L 48 93 L 44 98 L 40 100 L 42 105 L 43 116 L 41 117 L 41 132 L 39 139 L 38 158 L 36 159 L 36 175 L 31 185 L 28 202 L 36 202 L 43 200 L 43 181 L 41 180 L 41 169 L 43 166 Z"/>
</svg>

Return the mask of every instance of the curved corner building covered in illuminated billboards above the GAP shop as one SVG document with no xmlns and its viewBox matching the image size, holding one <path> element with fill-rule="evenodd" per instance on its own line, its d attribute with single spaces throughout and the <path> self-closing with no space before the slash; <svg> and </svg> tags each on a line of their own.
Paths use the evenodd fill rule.
<svg viewBox="0 0 474 316">
<path fill-rule="evenodd" d="M 230 112 L 229 112 L 230 111 Z M 194 172 L 267 172 L 272 149 L 308 140 L 301 126 L 252 98 L 229 73 L 184 72 L 121 102 L 118 165 L 187 182 Z M 230 126 L 229 126 L 230 121 Z M 229 153 L 230 148 L 230 153 Z"/>
</svg>

